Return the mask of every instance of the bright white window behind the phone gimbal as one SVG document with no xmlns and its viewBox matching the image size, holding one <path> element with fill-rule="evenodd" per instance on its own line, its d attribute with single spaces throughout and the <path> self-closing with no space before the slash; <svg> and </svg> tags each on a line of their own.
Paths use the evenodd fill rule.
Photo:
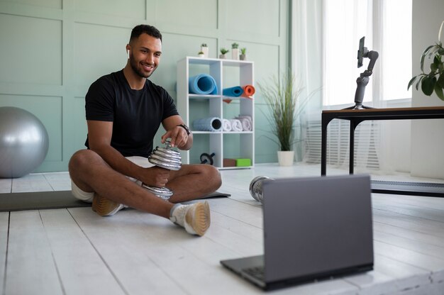
<svg viewBox="0 0 444 295">
<path fill-rule="evenodd" d="M 359 40 L 379 52 L 364 104 L 411 99 L 411 0 L 323 0 L 323 104 L 353 105 L 356 79 L 370 59 L 357 68 Z"/>
</svg>

